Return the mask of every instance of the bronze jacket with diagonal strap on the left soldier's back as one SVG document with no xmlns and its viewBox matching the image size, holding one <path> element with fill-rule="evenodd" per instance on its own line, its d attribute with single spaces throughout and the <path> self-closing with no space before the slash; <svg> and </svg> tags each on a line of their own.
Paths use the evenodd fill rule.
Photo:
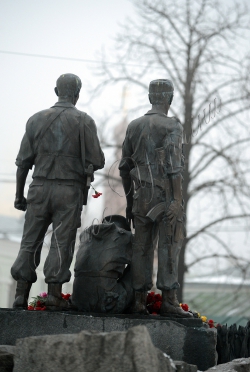
<svg viewBox="0 0 250 372">
<path fill-rule="evenodd" d="M 52 117 L 56 118 L 43 132 Z M 104 167 L 96 125 L 89 115 L 69 102 L 57 102 L 28 120 L 16 165 L 29 169 L 34 165 L 33 178 L 84 182 L 89 164 L 94 170 Z"/>
</svg>

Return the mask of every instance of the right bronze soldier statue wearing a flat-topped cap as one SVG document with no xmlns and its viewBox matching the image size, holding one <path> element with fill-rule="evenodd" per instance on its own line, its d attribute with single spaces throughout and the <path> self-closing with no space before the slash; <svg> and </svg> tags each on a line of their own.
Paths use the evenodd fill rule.
<svg viewBox="0 0 250 372">
<path fill-rule="evenodd" d="M 161 315 L 192 317 L 177 300 L 178 259 L 184 238 L 182 200 L 182 136 L 179 120 L 168 117 L 174 87 L 158 79 L 149 85 L 152 109 L 127 129 L 119 165 L 127 197 L 127 219 L 134 223 L 132 245 L 132 312 L 147 314 L 152 288 L 154 246 L 158 238 L 157 288 Z"/>
</svg>

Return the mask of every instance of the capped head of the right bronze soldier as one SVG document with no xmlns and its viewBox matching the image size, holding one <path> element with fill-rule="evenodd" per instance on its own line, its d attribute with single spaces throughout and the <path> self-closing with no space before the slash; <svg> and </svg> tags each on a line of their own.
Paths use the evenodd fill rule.
<svg viewBox="0 0 250 372">
<path fill-rule="evenodd" d="M 149 84 L 149 102 L 152 105 L 161 105 L 167 99 L 171 105 L 174 97 L 174 86 L 171 80 L 157 79 Z"/>
</svg>

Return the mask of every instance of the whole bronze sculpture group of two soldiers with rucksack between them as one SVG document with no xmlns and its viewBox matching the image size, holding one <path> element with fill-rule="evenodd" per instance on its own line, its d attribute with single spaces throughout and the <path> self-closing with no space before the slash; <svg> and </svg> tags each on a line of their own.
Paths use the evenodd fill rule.
<svg viewBox="0 0 250 372">
<path fill-rule="evenodd" d="M 167 79 L 151 81 L 152 108 L 127 128 L 119 165 L 127 198 L 126 218 L 108 216 L 81 234 L 73 294 L 69 301 L 61 297 L 62 284 L 71 277 L 82 205 L 94 172 L 104 167 L 95 122 L 75 107 L 81 85 L 78 76 L 61 75 L 55 88 L 58 102 L 33 115 L 26 125 L 16 160 L 15 208 L 27 211 L 20 251 L 11 268 L 17 281 L 13 307 L 27 309 L 43 240 L 52 223 L 44 265 L 47 310 L 147 315 L 146 298 L 152 288 L 158 243 L 161 315 L 190 318 L 193 315 L 179 306 L 176 295 L 178 258 L 185 236 L 184 158 L 182 125 L 168 116 L 174 87 Z M 24 186 L 33 166 L 26 200 Z"/>
</svg>

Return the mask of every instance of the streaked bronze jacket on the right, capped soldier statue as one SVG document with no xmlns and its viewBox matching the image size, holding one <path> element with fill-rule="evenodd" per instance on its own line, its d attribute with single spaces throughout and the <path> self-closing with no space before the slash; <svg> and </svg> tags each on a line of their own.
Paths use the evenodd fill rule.
<svg viewBox="0 0 250 372">
<path fill-rule="evenodd" d="M 156 110 L 133 120 L 123 142 L 119 165 L 122 178 L 152 183 L 182 170 L 182 135 L 179 120 Z"/>
</svg>

